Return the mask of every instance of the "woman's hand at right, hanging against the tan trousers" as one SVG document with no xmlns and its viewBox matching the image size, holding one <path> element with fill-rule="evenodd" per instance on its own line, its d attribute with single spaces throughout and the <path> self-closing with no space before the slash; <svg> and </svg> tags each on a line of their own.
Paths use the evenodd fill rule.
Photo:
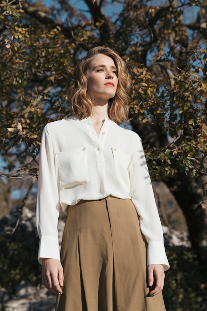
<svg viewBox="0 0 207 311">
<path fill-rule="evenodd" d="M 165 279 L 165 273 L 164 268 L 162 265 L 148 265 L 147 266 L 147 272 L 148 272 L 148 286 L 153 286 L 152 289 L 150 289 L 150 296 L 153 297 L 154 295 L 157 295 L 159 292 L 163 290 L 164 287 L 164 279 Z"/>
</svg>

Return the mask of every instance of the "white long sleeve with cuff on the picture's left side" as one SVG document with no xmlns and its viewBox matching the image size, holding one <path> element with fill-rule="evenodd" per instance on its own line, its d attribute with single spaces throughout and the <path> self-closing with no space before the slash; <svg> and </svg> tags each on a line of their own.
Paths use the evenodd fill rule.
<svg viewBox="0 0 207 311">
<path fill-rule="evenodd" d="M 60 260 L 58 242 L 59 189 L 53 144 L 49 126 L 43 130 L 38 177 L 37 231 L 40 238 L 38 260 L 55 258 Z"/>
</svg>

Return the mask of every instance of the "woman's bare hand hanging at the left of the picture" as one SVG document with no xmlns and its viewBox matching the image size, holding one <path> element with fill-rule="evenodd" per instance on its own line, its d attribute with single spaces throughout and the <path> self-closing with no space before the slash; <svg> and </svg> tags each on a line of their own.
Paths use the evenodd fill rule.
<svg viewBox="0 0 207 311">
<path fill-rule="evenodd" d="M 61 286 L 63 286 L 64 276 L 63 267 L 58 259 L 43 258 L 42 259 L 42 283 L 55 294 L 63 294 Z"/>
</svg>

